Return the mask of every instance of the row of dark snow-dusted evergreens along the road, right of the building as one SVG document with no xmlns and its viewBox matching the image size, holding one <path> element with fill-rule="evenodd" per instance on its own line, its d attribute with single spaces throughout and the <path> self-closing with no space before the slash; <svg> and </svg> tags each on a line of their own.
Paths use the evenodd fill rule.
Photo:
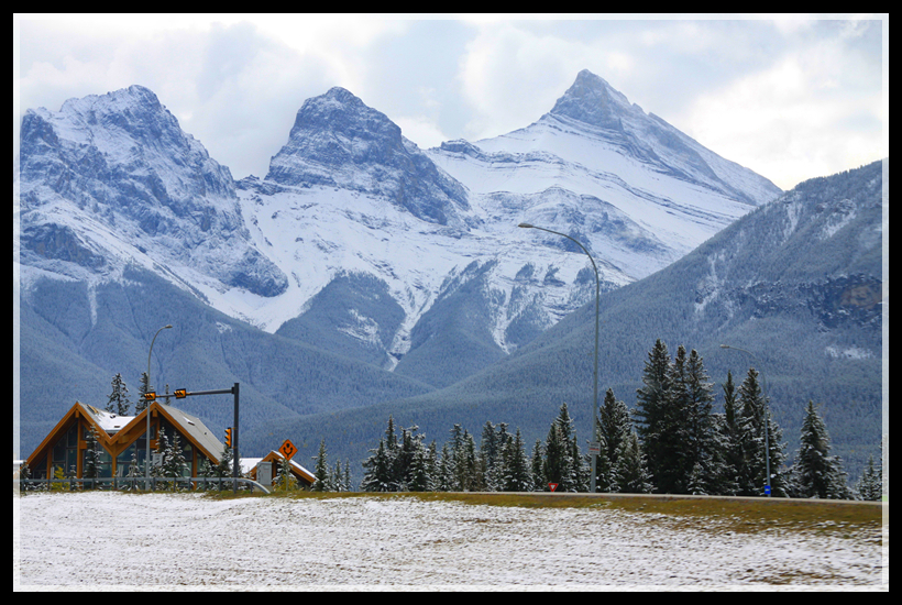
<svg viewBox="0 0 902 605">
<path fill-rule="evenodd" d="M 813 402 L 805 407 L 800 450 L 788 465 L 782 430 L 759 377 L 749 367 L 737 385 L 727 373 L 724 409 L 715 411 L 715 385 L 697 351 L 680 345 L 671 356 L 658 340 L 645 363 L 636 407 L 629 409 L 610 388 L 600 406 L 593 436 L 601 444 L 596 491 L 762 496 L 769 485 L 778 497 L 880 499 L 881 464 L 871 458 L 850 486 L 843 461 L 831 455 L 829 435 Z M 591 484 L 591 458 L 580 448 L 565 403 L 531 452 L 520 430 L 512 432 L 505 422 L 486 421 L 479 443 L 455 424 L 440 450 L 417 431 L 396 427 L 389 416 L 362 463 L 361 491 L 532 492 L 556 484 L 557 491 L 587 492 Z M 324 466 L 326 458 L 321 443 L 318 464 Z"/>
</svg>

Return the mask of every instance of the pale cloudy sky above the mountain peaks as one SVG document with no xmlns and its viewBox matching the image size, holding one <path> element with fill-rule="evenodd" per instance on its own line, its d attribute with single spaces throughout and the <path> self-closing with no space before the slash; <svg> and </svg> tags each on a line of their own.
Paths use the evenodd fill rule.
<svg viewBox="0 0 902 605">
<path fill-rule="evenodd" d="M 889 15 L 13 15 L 28 108 L 132 84 L 235 178 L 341 86 L 421 148 L 549 111 L 581 69 L 788 189 L 889 155 Z"/>
</svg>

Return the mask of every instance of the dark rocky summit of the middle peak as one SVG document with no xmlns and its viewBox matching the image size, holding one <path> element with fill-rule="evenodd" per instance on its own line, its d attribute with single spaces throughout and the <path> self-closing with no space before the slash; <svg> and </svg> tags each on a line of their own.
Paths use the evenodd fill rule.
<svg viewBox="0 0 902 605">
<path fill-rule="evenodd" d="M 340 87 L 304 102 L 266 180 L 373 194 L 439 224 L 462 226 L 458 210 L 468 207 L 463 187 L 402 136 L 397 124 Z"/>
</svg>

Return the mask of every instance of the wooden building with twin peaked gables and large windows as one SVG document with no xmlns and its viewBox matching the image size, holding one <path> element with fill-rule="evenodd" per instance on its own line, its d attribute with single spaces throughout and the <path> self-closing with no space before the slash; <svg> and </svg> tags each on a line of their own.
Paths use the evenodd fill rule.
<svg viewBox="0 0 902 605">
<path fill-rule="evenodd" d="M 184 476 L 198 476 L 202 460 L 216 465 L 224 446 L 199 418 L 172 406 L 153 402 L 136 416 L 117 416 L 76 402 L 25 460 L 32 479 L 53 479 L 56 469 L 66 476 L 82 479 L 85 452 L 91 429 L 96 431 L 100 457 L 99 477 L 125 477 L 136 461 L 143 475 L 146 458 L 147 415 L 151 415 L 151 452 L 157 447 L 160 430 L 169 442 L 179 436 L 188 463 Z"/>
</svg>

